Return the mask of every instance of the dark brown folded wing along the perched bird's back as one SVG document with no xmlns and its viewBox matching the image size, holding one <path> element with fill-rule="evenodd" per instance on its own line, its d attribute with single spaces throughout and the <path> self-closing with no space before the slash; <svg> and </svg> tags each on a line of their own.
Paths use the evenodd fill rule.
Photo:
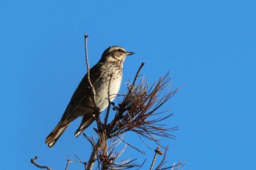
<svg viewBox="0 0 256 170">
<path fill-rule="evenodd" d="M 99 68 L 101 68 L 103 63 L 97 63 L 97 65 L 93 66 L 90 69 L 90 80 L 91 84 L 95 85 L 99 79 L 102 77 L 102 72 L 99 71 Z M 75 90 L 75 93 L 73 94 L 72 98 L 69 101 L 69 104 L 67 105 L 67 109 L 64 112 L 64 115 L 62 116 L 61 120 L 65 120 L 69 117 L 70 114 L 75 110 L 75 108 L 78 106 L 78 104 L 81 103 L 81 101 L 86 100 L 89 98 L 89 96 L 92 96 L 90 84 L 88 80 L 88 73 L 83 77 L 83 80 L 78 85 L 78 88 Z"/>
</svg>

